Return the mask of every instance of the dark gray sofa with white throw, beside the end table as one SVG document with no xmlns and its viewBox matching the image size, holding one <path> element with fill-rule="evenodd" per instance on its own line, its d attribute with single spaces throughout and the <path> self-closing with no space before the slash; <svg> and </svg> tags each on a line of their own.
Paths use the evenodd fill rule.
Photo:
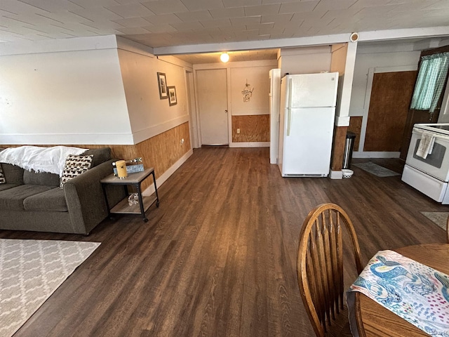
<svg viewBox="0 0 449 337">
<path fill-rule="evenodd" d="M 114 161 L 109 147 L 83 153 L 90 154 L 91 169 L 67 181 L 62 189 L 58 174 L 2 163 L 6 183 L 0 184 L 0 230 L 89 234 L 107 218 L 100 179 L 112 173 Z M 123 187 L 107 186 L 107 197 L 114 206 L 125 197 Z"/>
</svg>

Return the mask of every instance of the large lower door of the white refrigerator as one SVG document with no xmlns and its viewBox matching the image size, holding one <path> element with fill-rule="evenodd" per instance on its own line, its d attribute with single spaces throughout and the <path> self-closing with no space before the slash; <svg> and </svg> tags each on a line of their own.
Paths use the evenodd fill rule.
<svg viewBox="0 0 449 337">
<path fill-rule="evenodd" d="M 282 176 L 328 176 L 334 107 L 286 109 Z"/>
</svg>

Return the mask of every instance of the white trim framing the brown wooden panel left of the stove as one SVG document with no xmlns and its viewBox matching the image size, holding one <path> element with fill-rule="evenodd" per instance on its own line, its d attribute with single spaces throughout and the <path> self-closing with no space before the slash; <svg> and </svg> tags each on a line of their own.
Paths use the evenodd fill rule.
<svg viewBox="0 0 449 337">
<path fill-rule="evenodd" d="M 401 65 L 391 67 L 371 67 L 368 68 L 368 81 L 366 84 L 365 102 L 363 104 L 362 125 L 360 131 L 360 141 L 358 149 L 354 149 L 352 157 L 354 158 L 399 158 L 401 152 L 375 152 L 363 151 L 365 147 L 366 126 L 368 124 L 368 112 L 370 110 L 371 91 L 373 91 L 374 74 L 382 72 L 413 72 L 418 69 L 417 65 Z M 358 116 L 351 116 L 358 117 Z"/>
</svg>

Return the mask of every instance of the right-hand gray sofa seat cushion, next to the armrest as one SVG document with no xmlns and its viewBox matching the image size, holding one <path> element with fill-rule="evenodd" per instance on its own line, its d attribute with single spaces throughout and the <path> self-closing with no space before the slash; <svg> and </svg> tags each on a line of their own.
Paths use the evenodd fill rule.
<svg viewBox="0 0 449 337">
<path fill-rule="evenodd" d="M 23 206 L 26 211 L 68 211 L 64 190 L 59 187 L 27 197 Z"/>
</svg>

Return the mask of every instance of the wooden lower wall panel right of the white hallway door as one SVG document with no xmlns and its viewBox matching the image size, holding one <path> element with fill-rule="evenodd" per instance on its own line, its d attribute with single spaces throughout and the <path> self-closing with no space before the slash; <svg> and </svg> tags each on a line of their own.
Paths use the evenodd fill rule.
<svg viewBox="0 0 449 337">
<path fill-rule="evenodd" d="M 232 116 L 232 142 L 269 142 L 269 114 Z"/>
</svg>

